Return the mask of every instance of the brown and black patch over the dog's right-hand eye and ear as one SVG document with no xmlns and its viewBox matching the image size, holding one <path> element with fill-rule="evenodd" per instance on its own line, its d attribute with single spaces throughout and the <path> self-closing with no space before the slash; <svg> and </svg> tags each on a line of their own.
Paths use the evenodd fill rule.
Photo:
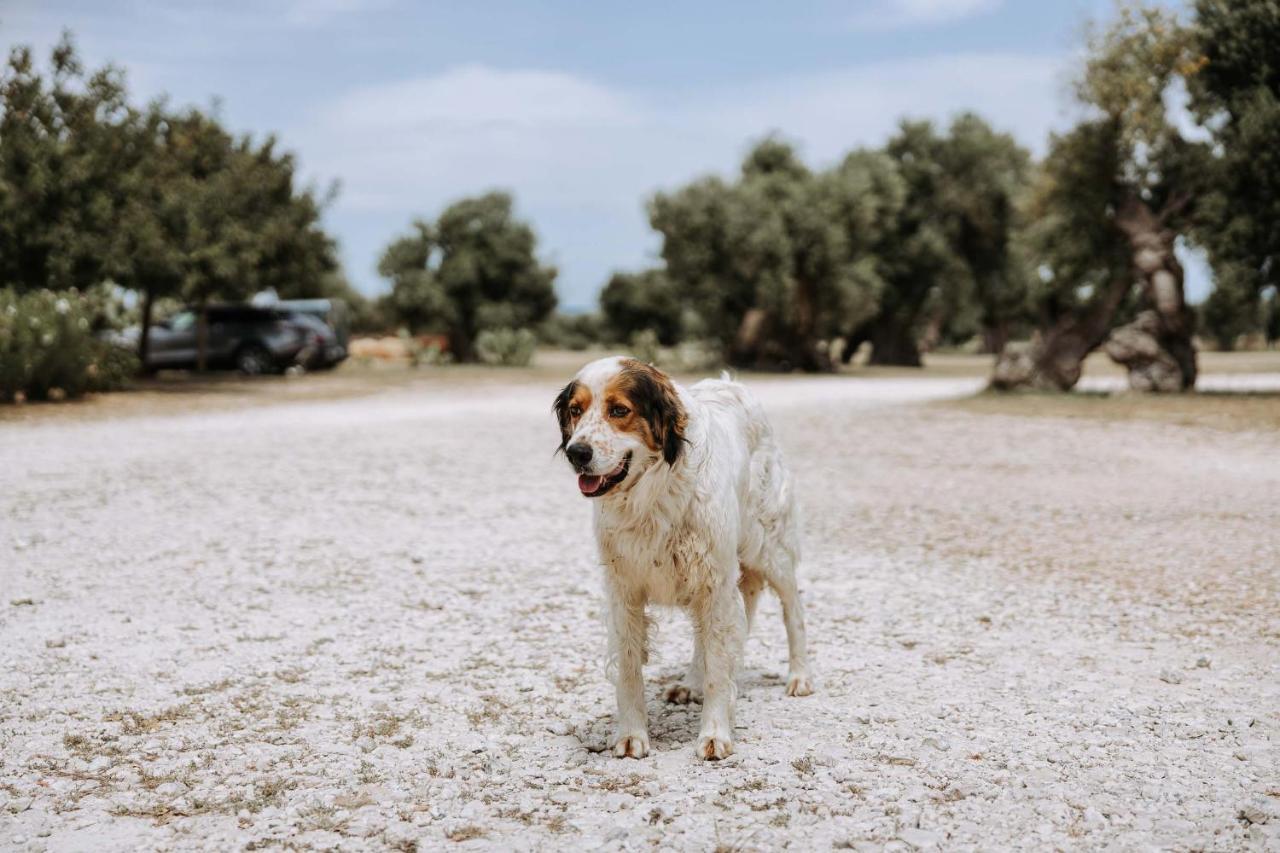
<svg viewBox="0 0 1280 853">
<path fill-rule="evenodd" d="M 604 387 L 604 418 L 620 433 L 632 433 L 662 453 L 668 465 L 680 457 L 689 415 L 676 386 L 653 365 L 623 359 Z"/>
</svg>

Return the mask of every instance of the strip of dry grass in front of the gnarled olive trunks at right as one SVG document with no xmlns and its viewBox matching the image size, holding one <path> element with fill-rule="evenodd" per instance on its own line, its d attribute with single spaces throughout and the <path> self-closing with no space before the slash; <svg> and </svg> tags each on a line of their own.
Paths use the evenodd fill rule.
<svg viewBox="0 0 1280 853">
<path fill-rule="evenodd" d="M 1280 429 L 1280 394 L 998 394 L 934 403 L 974 415 L 1156 421 L 1231 432 Z"/>
</svg>

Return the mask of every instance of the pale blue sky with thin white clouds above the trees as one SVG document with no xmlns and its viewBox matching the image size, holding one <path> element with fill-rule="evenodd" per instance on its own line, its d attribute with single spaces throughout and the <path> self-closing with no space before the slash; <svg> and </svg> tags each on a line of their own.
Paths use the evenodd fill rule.
<svg viewBox="0 0 1280 853">
<path fill-rule="evenodd" d="M 1170 5 L 1178 5 L 1170 0 Z M 776 133 L 813 167 L 879 145 L 904 117 L 977 110 L 1036 154 L 1079 113 L 1084 22 L 1110 0 L 0 0 L 0 45 L 42 55 L 70 29 L 138 102 L 210 106 L 274 133 L 347 277 L 378 293 L 383 247 L 489 190 L 559 269 L 568 310 L 658 260 L 645 201 L 731 174 Z M 1188 263 L 1188 296 L 1208 288 Z"/>
</svg>

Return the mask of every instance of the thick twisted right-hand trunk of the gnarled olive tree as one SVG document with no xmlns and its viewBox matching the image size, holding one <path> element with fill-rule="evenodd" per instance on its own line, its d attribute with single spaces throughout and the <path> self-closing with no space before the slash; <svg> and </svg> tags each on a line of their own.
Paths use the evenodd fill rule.
<svg viewBox="0 0 1280 853">
<path fill-rule="evenodd" d="M 1116 227 L 1133 248 L 1133 268 L 1142 283 L 1143 310 L 1133 323 L 1111 333 L 1105 350 L 1129 370 L 1134 391 L 1187 391 L 1196 384 L 1196 314 L 1183 293 L 1183 266 L 1174 255 L 1175 234 L 1139 199 L 1129 197 Z"/>
</svg>

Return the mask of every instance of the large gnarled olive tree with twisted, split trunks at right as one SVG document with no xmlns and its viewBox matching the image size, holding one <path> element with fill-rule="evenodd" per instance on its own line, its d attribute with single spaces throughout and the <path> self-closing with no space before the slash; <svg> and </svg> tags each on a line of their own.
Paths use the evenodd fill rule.
<svg viewBox="0 0 1280 853">
<path fill-rule="evenodd" d="M 1006 348 L 995 387 L 1070 388 L 1100 343 L 1134 389 L 1196 383 L 1196 314 L 1175 246 L 1190 233 L 1207 149 L 1183 137 L 1166 102 L 1197 67 L 1190 31 L 1162 9 L 1124 5 L 1091 36 L 1076 82 L 1091 118 L 1053 140 L 1036 202 L 1042 323 L 1029 345 Z M 1111 329 L 1129 286 L 1139 310 Z"/>
</svg>

